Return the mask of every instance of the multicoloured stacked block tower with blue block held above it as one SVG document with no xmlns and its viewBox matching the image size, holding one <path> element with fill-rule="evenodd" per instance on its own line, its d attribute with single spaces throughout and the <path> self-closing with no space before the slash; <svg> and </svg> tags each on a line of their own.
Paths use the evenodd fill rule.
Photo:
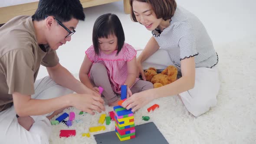
<svg viewBox="0 0 256 144">
<path fill-rule="evenodd" d="M 121 101 L 125 101 L 127 86 L 121 85 Z M 115 113 L 115 133 L 120 141 L 135 138 L 134 116 L 131 109 L 127 110 L 121 105 L 114 107 Z"/>
</svg>

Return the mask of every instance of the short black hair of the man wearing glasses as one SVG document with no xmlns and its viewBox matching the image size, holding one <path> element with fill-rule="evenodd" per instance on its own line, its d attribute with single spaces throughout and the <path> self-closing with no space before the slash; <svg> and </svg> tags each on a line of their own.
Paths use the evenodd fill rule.
<svg viewBox="0 0 256 144">
<path fill-rule="evenodd" d="M 67 22 L 72 18 L 85 20 L 85 13 L 79 0 L 39 0 L 32 19 L 40 21 L 46 16 L 54 16 L 61 22 Z"/>
</svg>

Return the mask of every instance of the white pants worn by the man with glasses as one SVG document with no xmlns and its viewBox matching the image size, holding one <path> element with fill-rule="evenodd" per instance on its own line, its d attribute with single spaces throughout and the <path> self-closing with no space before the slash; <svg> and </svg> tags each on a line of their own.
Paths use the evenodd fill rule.
<svg viewBox="0 0 256 144">
<path fill-rule="evenodd" d="M 73 93 L 68 88 L 56 84 L 49 76 L 36 80 L 35 94 L 32 98 L 49 99 Z M 46 105 L 47 107 L 47 105 Z M 53 113 L 53 112 L 52 112 Z M 20 126 L 14 107 L 0 112 L 0 144 L 48 144 L 51 133 L 51 123 L 46 116 L 31 116 L 35 123 L 27 131 Z"/>
</svg>

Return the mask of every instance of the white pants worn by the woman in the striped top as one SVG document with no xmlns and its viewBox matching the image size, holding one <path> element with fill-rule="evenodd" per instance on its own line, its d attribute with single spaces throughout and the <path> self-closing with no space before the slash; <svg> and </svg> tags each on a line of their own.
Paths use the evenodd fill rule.
<svg viewBox="0 0 256 144">
<path fill-rule="evenodd" d="M 142 51 L 138 51 L 137 56 Z M 158 49 L 151 57 L 143 63 L 143 69 L 154 67 L 156 69 L 165 69 L 169 65 L 174 65 L 168 52 Z M 176 65 L 174 65 L 176 66 Z M 177 67 L 177 66 L 176 66 Z M 180 68 L 177 68 L 180 69 Z M 195 86 L 193 89 L 182 92 L 179 95 L 187 108 L 194 116 L 199 116 L 209 111 L 217 104 L 217 94 L 220 89 L 219 72 L 216 66 L 213 68 L 196 68 Z"/>
</svg>

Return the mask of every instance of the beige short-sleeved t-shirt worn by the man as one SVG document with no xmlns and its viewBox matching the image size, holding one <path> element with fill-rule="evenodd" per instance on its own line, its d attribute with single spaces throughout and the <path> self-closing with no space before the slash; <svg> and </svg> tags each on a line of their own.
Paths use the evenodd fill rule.
<svg viewBox="0 0 256 144">
<path fill-rule="evenodd" d="M 55 50 L 38 45 L 31 16 L 17 16 L 0 27 L 0 111 L 13 105 L 13 92 L 35 93 L 40 65 L 58 63 Z"/>
</svg>

